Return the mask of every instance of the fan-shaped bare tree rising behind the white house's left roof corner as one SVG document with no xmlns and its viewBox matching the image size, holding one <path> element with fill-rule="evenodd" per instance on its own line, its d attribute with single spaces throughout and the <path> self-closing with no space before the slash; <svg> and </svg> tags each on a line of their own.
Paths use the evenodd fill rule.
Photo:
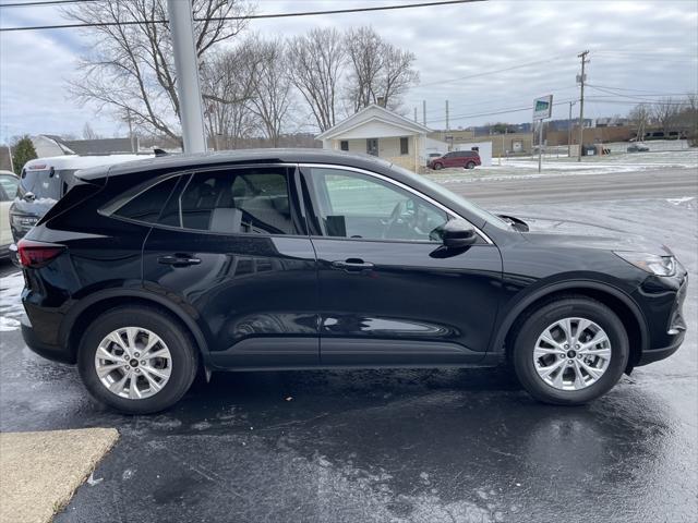
<svg viewBox="0 0 698 523">
<path fill-rule="evenodd" d="M 291 82 L 312 110 L 321 131 L 337 119 L 342 70 L 346 63 L 344 39 L 334 28 L 311 29 L 288 42 Z"/>
</svg>

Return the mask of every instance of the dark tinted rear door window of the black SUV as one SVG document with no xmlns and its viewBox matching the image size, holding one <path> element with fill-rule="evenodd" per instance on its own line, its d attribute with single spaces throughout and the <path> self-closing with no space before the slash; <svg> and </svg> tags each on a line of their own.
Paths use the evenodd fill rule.
<svg viewBox="0 0 698 523">
<path fill-rule="evenodd" d="M 184 229 L 230 234 L 299 233 L 282 168 L 196 173 L 179 196 L 178 206 L 179 226 Z"/>
</svg>

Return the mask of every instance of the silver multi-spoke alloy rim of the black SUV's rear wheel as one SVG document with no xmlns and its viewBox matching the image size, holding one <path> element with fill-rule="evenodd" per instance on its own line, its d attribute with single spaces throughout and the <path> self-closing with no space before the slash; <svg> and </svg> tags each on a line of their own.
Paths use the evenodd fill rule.
<svg viewBox="0 0 698 523">
<path fill-rule="evenodd" d="M 95 370 L 101 385 L 113 394 L 143 400 L 167 385 L 172 355 L 155 332 L 123 327 L 107 335 L 97 346 Z"/>
</svg>

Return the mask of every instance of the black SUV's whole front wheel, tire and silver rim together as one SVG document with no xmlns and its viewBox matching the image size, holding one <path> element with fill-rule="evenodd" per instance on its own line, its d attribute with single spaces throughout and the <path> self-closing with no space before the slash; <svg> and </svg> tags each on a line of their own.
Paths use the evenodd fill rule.
<svg viewBox="0 0 698 523">
<path fill-rule="evenodd" d="M 524 388 L 545 403 L 577 405 L 611 390 L 628 361 L 618 317 L 586 297 L 558 300 L 524 320 L 513 363 Z"/>
</svg>

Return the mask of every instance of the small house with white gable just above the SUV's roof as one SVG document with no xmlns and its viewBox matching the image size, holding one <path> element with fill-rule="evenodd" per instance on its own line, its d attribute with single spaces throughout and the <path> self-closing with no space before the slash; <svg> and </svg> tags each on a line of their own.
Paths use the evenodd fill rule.
<svg viewBox="0 0 698 523">
<path fill-rule="evenodd" d="M 324 149 L 378 156 L 418 172 L 426 165 L 430 132 L 424 125 L 372 104 L 315 138 L 323 142 Z"/>
</svg>

